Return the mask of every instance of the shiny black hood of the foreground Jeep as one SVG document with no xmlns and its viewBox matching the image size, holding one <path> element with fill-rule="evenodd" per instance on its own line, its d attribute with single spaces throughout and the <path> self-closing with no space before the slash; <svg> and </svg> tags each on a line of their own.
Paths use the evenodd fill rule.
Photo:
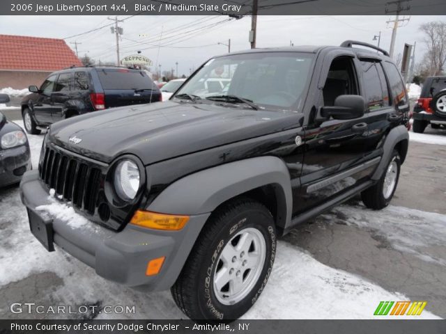
<svg viewBox="0 0 446 334">
<path fill-rule="evenodd" d="M 168 101 L 76 116 L 52 125 L 49 138 L 106 163 L 134 154 L 147 165 L 299 127 L 301 118 L 302 114 L 291 111 Z"/>
</svg>

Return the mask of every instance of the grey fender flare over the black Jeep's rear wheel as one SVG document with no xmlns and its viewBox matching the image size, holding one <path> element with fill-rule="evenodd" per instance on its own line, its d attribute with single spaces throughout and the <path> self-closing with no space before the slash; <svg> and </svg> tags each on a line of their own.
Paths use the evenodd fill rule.
<svg viewBox="0 0 446 334">
<path fill-rule="evenodd" d="M 383 176 L 384 170 L 392 157 L 394 148 L 401 142 L 403 143 L 401 147 L 402 152 L 400 152 L 402 155 L 402 163 L 406 158 L 409 143 L 409 133 L 404 125 L 394 127 L 392 130 L 390 130 L 389 134 L 387 134 L 383 145 L 383 157 L 381 158 L 378 167 L 376 167 L 374 174 L 371 176 L 371 180 L 379 180 L 380 177 Z"/>
</svg>

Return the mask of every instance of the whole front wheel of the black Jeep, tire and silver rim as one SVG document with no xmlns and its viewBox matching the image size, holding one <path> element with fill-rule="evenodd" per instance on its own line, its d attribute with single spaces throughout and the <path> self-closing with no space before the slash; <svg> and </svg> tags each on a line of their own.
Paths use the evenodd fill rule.
<svg viewBox="0 0 446 334">
<path fill-rule="evenodd" d="M 243 243 L 245 237 L 252 241 Z M 249 198 L 223 205 L 210 216 L 171 287 L 176 305 L 191 319 L 238 319 L 263 291 L 276 243 L 275 223 L 266 207 Z M 247 269 L 248 253 L 252 269 Z"/>
</svg>

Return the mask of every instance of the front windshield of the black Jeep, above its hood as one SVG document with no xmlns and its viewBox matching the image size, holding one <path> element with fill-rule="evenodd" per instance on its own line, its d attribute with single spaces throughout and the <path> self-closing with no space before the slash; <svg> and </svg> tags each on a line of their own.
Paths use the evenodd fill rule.
<svg viewBox="0 0 446 334">
<path fill-rule="evenodd" d="M 307 86 L 314 54 L 259 52 L 208 61 L 175 96 L 252 102 L 261 109 L 297 110 Z M 237 97 L 238 99 L 234 99 Z M 242 99 L 242 100 L 240 100 Z"/>
</svg>

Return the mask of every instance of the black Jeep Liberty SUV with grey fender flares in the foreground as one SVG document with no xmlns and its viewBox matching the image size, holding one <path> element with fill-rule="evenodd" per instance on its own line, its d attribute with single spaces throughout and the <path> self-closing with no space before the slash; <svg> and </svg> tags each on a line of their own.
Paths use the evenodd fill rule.
<svg viewBox="0 0 446 334">
<path fill-rule="evenodd" d="M 192 319 L 236 319 L 263 291 L 277 237 L 357 193 L 372 209 L 390 202 L 408 110 L 373 45 L 227 54 L 166 103 L 53 124 L 22 201 L 48 250 L 123 285 L 170 288 Z M 95 229 L 36 209 L 54 201 Z"/>
</svg>

